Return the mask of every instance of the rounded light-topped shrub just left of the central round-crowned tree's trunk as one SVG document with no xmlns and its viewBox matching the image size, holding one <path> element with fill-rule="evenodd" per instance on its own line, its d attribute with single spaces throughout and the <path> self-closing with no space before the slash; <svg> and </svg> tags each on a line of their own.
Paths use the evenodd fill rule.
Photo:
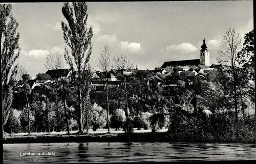
<svg viewBox="0 0 256 164">
<path fill-rule="evenodd" d="M 118 130 L 121 126 L 123 126 L 125 120 L 125 112 L 121 108 L 116 109 L 111 117 L 111 125 Z"/>
</svg>

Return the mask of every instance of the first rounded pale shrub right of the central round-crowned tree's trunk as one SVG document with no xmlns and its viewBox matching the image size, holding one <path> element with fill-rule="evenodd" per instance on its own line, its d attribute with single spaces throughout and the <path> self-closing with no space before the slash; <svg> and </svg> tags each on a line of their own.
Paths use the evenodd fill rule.
<svg viewBox="0 0 256 164">
<path fill-rule="evenodd" d="M 143 128 L 143 129 L 148 129 L 150 127 L 150 117 L 153 114 L 149 113 L 149 112 L 143 112 L 138 114 L 138 116 L 136 117 L 136 125 L 138 127 L 138 129 Z"/>
</svg>

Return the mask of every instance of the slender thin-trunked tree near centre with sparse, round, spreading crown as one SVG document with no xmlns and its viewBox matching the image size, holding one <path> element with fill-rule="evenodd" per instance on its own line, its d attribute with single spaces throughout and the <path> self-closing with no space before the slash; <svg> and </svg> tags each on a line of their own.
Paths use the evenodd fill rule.
<svg viewBox="0 0 256 164">
<path fill-rule="evenodd" d="M 126 108 L 126 125 L 127 125 L 127 130 L 128 131 L 132 131 L 132 127 L 131 126 L 131 122 L 130 122 L 130 118 L 129 118 L 129 112 L 128 112 L 128 90 L 127 90 L 127 86 L 126 86 L 126 81 L 127 81 L 127 75 L 129 75 L 129 73 L 127 73 L 127 71 L 129 71 L 129 69 L 131 69 L 133 67 L 133 64 L 131 64 L 131 62 L 129 60 L 127 60 L 126 56 L 124 55 L 120 55 L 120 56 L 116 56 L 113 58 L 114 63 L 115 63 L 115 68 L 116 69 L 122 69 L 122 76 L 123 76 L 123 82 L 124 82 L 124 88 L 125 88 L 125 108 Z"/>
</svg>

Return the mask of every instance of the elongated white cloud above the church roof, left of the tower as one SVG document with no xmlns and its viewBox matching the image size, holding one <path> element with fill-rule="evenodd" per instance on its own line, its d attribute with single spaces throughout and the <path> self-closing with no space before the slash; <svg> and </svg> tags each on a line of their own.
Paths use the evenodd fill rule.
<svg viewBox="0 0 256 164">
<path fill-rule="evenodd" d="M 170 45 L 166 47 L 167 51 L 171 51 L 171 50 L 176 50 L 176 51 L 180 51 L 181 53 L 191 53 L 191 52 L 195 52 L 197 50 L 197 47 L 195 47 L 193 44 L 191 43 L 181 43 L 179 45 Z"/>
</svg>

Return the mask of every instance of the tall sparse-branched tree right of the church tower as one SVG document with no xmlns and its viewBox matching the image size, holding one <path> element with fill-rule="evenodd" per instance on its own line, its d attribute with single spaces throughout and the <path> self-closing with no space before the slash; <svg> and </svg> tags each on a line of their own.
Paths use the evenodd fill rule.
<svg viewBox="0 0 256 164">
<path fill-rule="evenodd" d="M 234 29 L 229 28 L 223 35 L 221 46 L 218 51 L 219 57 L 218 62 L 222 64 L 227 64 L 231 68 L 232 83 L 233 83 L 233 99 L 234 99 L 234 109 L 236 112 L 236 122 L 238 122 L 238 74 L 240 71 L 239 67 L 239 56 L 238 52 L 242 47 L 242 38 L 239 33 Z"/>
</svg>

